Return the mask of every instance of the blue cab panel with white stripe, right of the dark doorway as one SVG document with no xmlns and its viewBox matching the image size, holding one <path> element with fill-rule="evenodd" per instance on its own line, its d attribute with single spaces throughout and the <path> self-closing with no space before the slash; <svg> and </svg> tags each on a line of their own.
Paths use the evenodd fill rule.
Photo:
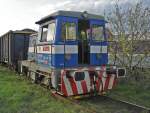
<svg viewBox="0 0 150 113">
<path fill-rule="evenodd" d="M 90 62 L 91 65 L 106 65 L 108 63 L 105 21 L 91 20 Z"/>
</svg>

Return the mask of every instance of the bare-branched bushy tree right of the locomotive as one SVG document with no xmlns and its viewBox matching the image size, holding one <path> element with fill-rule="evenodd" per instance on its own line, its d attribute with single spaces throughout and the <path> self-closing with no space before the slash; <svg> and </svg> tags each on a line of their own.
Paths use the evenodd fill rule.
<svg viewBox="0 0 150 113">
<path fill-rule="evenodd" d="M 141 67 L 143 60 L 150 55 L 150 8 L 142 1 L 126 8 L 116 2 L 107 15 L 113 34 L 109 39 L 113 42 L 111 57 L 114 63 L 126 67 L 132 74 L 133 69 Z"/>
</svg>

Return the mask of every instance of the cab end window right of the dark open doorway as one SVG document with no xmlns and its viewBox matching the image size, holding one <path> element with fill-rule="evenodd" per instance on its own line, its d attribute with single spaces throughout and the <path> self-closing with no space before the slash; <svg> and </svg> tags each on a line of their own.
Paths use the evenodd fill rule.
<svg viewBox="0 0 150 113">
<path fill-rule="evenodd" d="M 104 31 L 101 25 L 92 25 L 92 40 L 104 41 Z"/>
</svg>

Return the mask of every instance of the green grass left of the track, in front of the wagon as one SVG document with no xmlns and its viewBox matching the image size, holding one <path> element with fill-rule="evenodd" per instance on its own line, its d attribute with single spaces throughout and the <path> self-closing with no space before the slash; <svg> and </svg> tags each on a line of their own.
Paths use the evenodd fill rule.
<svg viewBox="0 0 150 113">
<path fill-rule="evenodd" d="M 0 113 L 84 113 L 44 89 L 0 66 Z"/>
</svg>

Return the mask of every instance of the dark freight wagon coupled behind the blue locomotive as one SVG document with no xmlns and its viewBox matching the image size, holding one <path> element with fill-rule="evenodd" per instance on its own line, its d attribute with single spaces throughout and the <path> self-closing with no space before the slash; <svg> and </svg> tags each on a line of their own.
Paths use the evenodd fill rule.
<svg viewBox="0 0 150 113">
<path fill-rule="evenodd" d="M 29 36 L 34 30 L 9 31 L 0 37 L 0 62 L 17 69 L 18 60 L 26 60 Z"/>
</svg>

